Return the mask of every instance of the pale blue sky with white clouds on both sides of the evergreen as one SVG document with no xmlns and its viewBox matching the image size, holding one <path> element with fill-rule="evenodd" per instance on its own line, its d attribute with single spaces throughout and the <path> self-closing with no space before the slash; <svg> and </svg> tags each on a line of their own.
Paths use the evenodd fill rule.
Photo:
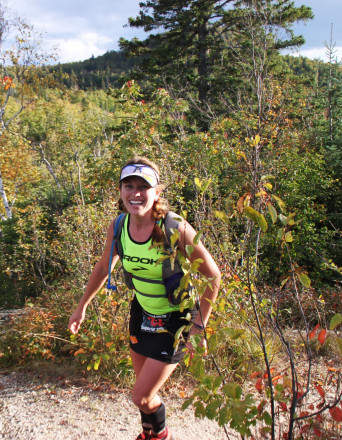
<svg viewBox="0 0 342 440">
<path fill-rule="evenodd" d="M 127 25 L 139 12 L 141 0 L 8 0 L 13 14 L 25 19 L 43 34 L 47 47 L 57 47 L 58 62 L 83 61 L 118 50 L 120 37 L 144 38 L 140 29 Z M 295 25 L 306 44 L 293 55 L 327 61 L 325 42 L 335 44 L 335 56 L 342 60 L 342 1 L 294 0 L 296 6 L 311 6 L 315 18 Z"/>
</svg>

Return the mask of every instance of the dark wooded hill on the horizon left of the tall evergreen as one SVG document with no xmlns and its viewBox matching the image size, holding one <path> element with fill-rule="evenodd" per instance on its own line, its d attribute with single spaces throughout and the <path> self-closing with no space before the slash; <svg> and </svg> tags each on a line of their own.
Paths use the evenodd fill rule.
<svg viewBox="0 0 342 440">
<path fill-rule="evenodd" d="M 120 76 L 128 73 L 133 66 L 133 60 L 113 50 L 85 61 L 57 64 L 50 69 L 56 73 L 56 79 L 68 87 L 106 90 L 122 85 Z"/>
</svg>

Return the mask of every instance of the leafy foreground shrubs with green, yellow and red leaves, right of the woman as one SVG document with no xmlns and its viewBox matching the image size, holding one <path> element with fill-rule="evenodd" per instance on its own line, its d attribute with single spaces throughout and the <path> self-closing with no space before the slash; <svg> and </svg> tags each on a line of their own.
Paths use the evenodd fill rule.
<svg viewBox="0 0 342 440">
<path fill-rule="evenodd" d="M 256 138 L 254 146 L 259 142 Z M 307 320 L 302 300 L 312 289 L 311 280 L 292 258 L 296 214 L 287 213 L 285 203 L 271 193 L 270 178 L 255 179 L 257 185 L 238 201 L 237 209 L 247 220 L 240 265 L 232 264 L 222 252 L 230 273 L 222 286 L 223 296 L 214 305 L 215 319 L 206 330 L 207 357 L 194 338 L 197 354 L 189 368 L 198 385 L 183 408 L 193 404 L 196 416 L 229 425 L 243 438 L 309 439 L 323 431 L 333 435 L 342 422 L 340 370 L 331 366 L 319 370 L 315 357 L 327 349 L 341 357 L 342 339 L 336 328 L 342 318 L 335 314 L 329 330 L 324 323 L 312 329 Z M 216 214 L 227 221 L 225 213 Z M 278 242 L 279 264 L 284 267 L 277 282 L 265 285 L 259 269 L 263 245 L 270 237 Z M 302 326 L 296 330 L 284 317 L 286 295 L 299 310 Z M 243 351 L 234 381 L 222 358 L 218 374 L 207 373 L 223 347 L 233 356 L 234 350 Z"/>
</svg>

